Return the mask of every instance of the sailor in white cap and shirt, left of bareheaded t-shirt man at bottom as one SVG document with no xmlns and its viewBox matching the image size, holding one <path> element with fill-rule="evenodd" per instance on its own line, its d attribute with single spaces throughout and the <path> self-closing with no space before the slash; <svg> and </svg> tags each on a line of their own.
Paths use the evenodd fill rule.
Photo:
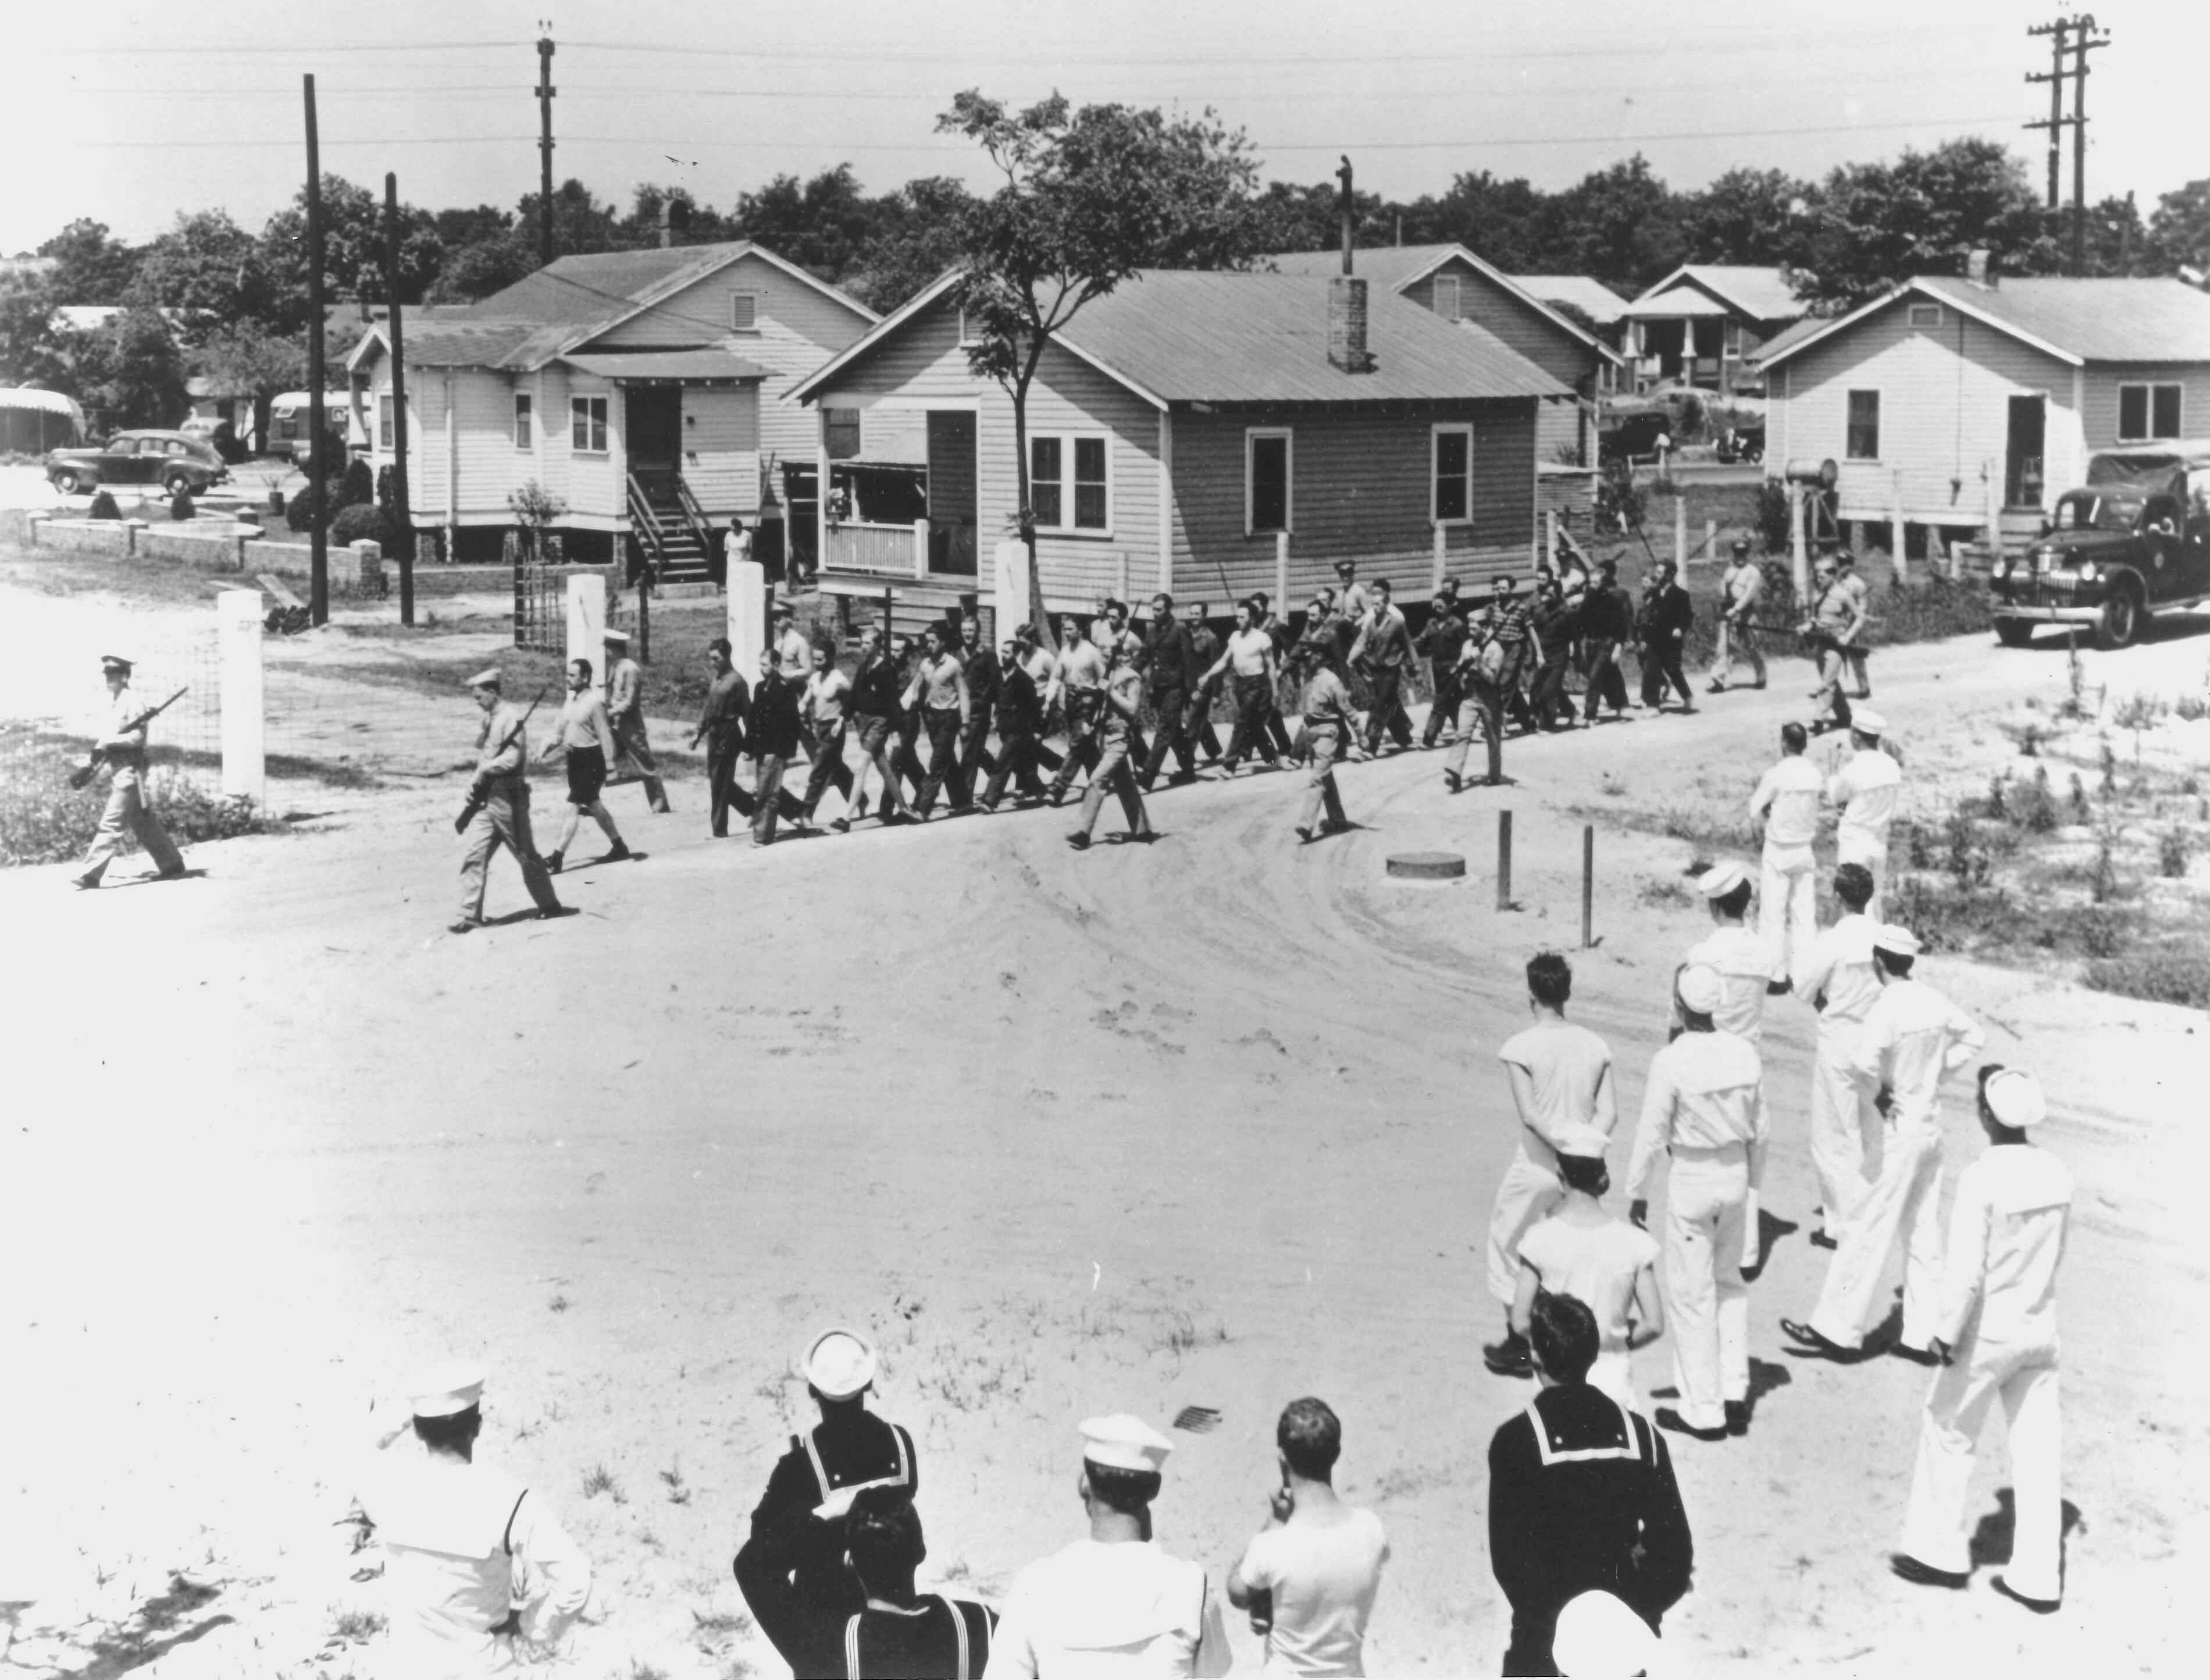
<svg viewBox="0 0 2210 1680">
<path fill-rule="evenodd" d="M 1227 1625 L 1204 1565 L 1151 1541 L 1151 1501 L 1174 1441 L 1125 1413 L 1081 1428 L 1090 1539 L 1012 1578 L 986 1680 L 1227 1673 Z"/>
</svg>

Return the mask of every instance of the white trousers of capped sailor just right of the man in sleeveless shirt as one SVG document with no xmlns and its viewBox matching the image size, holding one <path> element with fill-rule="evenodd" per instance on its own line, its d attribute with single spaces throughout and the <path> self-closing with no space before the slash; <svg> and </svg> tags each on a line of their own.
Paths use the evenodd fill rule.
<svg viewBox="0 0 2210 1680">
<path fill-rule="evenodd" d="M 1664 1191 L 1664 1295 L 1673 1384 L 1693 1428 L 1726 1426 L 1726 1401 L 1750 1397 L 1750 1287 L 1741 1282 L 1748 1161 L 1673 1156 Z"/>
</svg>

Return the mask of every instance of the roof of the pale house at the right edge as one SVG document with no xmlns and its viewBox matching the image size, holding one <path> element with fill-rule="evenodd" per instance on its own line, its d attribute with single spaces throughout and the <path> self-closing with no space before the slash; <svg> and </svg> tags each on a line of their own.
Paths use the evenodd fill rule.
<svg viewBox="0 0 2210 1680">
<path fill-rule="evenodd" d="M 1951 305 L 1974 321 L 2009 334 L 2062 363 L 2210 363 L 2210 294 L 2172 279 L 2004 279 L 1993 287 L 1954 276 L 1905 281 L 1832 321 L 1797 323 L 1759 351 L 1766 367 L 1808 345 L 1848 332 L 1903 296 Z M 1783 343 L 1786 340 L 1786 343 Z"/>
</svg>

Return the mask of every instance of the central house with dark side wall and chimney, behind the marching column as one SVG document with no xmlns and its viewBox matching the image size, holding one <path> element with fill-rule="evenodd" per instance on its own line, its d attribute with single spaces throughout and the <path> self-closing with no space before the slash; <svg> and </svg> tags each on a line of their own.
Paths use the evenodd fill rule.
<svg viewBox="0 0 2210 1680">
<path fill-rule="evenodd" d="M 1012 400 L 968 369 L 946 274 L 793 396 L 820 413 L 820 586 L 986 592 L 1019 506 Z M 1154 590 L 1302 599 L 1337 559 L 1425 590 L 1536 555 L 1536 411 L 1562 380 L 1390 287 L 1147 270 L 1045 347 L 1028 393 L 1050 610 Z M 904 475 L 913 513 L 873 480 Z M 871 511 L 871 500 L 884 508 Z"/>
</svg>

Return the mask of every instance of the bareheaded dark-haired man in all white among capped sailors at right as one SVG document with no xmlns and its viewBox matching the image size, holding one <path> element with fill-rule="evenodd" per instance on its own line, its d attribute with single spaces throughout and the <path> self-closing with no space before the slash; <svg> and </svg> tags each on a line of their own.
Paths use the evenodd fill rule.
<svg viewBox="0 0 2210 1680">
<path fill-rule="evenodd" d="M 1812 939 L 1797 975 L 1797 990 L 1819 1010 L 1819 1059 L 1810 1072 L 1810 1167 L 1819 1178 L 1819 1229 L 1810 1240 L 1819 1249 L 1839 1245 L 1850 1209 L 1865 1194 L 1865 1183 L 1878 1176 L 1881 1114 L 1872 1107 L 1872 1092 L 1850 1074 L 1856 1037 L 1881 997 L 1872 973 L 1876 924 L 1865 915 L 1870 897 L 1870 869 L 1843 864 L 1834 871 L 1834 900 L 1843 915 Z"/>
</svg>

